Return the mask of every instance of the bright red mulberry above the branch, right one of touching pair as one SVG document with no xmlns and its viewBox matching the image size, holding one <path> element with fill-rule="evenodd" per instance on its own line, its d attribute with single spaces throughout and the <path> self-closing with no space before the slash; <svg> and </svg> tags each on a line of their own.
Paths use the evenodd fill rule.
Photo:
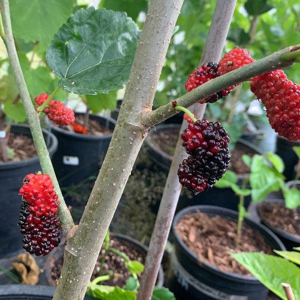
<svg viewBox="0 0 300 300">
<path fill-rule="evenodd" d="M 218 62 L 217 73 L 223 75 L 253 61 L 254 59 L 245 49 L 235 47 Z"/>
</svg>

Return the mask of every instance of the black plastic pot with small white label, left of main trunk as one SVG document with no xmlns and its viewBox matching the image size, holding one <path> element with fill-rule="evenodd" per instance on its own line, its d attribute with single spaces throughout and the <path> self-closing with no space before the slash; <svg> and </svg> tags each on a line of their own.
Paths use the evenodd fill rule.
<svg viewBox="0 0 300 300">
<path fill-rule="evenodd" d="M 89 118 L 111 131 L 116 123 L 114 119 L 106 116 L 90 115 Z M 45 122 L 58 139 L 58 149 L 52 162 L 60 185 L 78 184 L 88 176 L 97 174 L 112 134 L 85 135 L 59 128 L 47 118 Z"/>
</svg>

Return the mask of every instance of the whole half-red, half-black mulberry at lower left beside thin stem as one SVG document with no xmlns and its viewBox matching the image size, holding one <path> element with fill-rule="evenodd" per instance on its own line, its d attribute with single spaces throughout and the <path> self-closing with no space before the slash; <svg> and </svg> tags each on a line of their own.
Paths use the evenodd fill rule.
<svg viewBox="0 0 300 300">
<path fill-rule="evenodd" d="M 23 248 L 37 256 L 46 255 L 60 242 L 59 201 L 52 181 L 48 174 L 28 174 L 19 193 Z"/>
</svg>

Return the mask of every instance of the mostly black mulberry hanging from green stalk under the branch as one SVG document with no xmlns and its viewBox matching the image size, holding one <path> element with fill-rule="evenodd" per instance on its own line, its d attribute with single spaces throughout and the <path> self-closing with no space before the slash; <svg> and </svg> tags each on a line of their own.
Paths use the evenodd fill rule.
<svg viewBox="0 0 300 300">
<path fill-rule="evenodd" d="M 212 187 L 226 171 L 230 152 L 229 137 L 219 122 L 187 118 L 188 127 L 182 132 L 182 146 L 189 154 L 179 164 L 179 182 L 195 194 Z"/>
</svg>

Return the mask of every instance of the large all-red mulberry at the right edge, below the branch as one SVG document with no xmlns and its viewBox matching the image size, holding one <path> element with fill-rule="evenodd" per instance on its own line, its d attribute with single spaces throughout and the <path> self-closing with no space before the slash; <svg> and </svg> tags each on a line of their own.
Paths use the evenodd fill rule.
<svg viewBox="0 0 300 300">
<path fill-rule="evenodd" d="M 282 70 L 252 78 L 251 90 L 261 99 L 271 127 L 293 141 L 300 139 L 300 84 L 285 76 Z"/>
</svg>

